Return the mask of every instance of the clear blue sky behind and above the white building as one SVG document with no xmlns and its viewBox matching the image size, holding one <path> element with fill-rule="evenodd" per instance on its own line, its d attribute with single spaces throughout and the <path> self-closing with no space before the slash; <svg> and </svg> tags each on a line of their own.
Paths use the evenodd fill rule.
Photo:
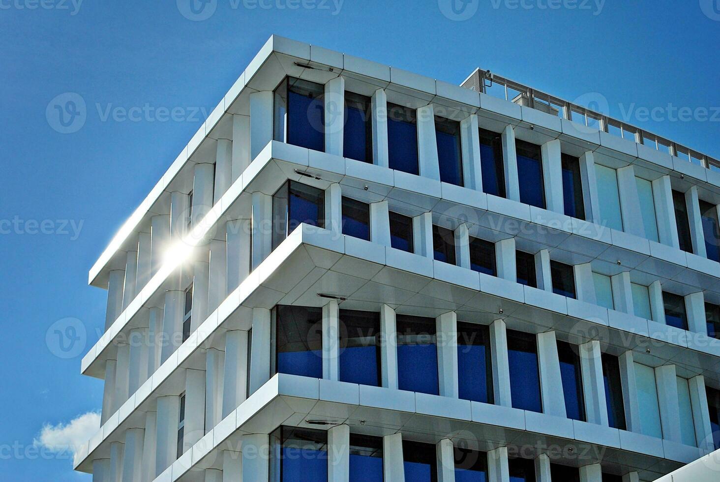
<svg viewBox="0 0 720 482">
<path fill-rule="evenodd" d="M 79 374 L 104 323 L 88 269 L 272 33 L 454 84 L 481 66 L 570 100 L 597 92 L 611 115 L 720 157 L 720 0 L 204 0 L 215 12 L 198 21 L 189 1 L 0 0 L 2 480 L 89 480 L 37 448 L 102 403 Z M 46 109 L 67 93 L 86 120 L 63 134 Z"/>
</svg>

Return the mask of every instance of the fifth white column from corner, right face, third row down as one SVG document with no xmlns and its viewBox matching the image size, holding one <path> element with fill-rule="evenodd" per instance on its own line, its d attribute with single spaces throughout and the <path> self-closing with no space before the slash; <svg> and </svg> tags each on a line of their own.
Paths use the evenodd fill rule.
<svg viewBox="0 0 720 482">
<path fill-rule="evenodd" d="M 540 365 L 540 392 L 543 412 L 565 418 L 565 398 L 562 393 L 562 376 L 557 357 L 557 340 L 554 331 L 537 335 L 538 364 Z"/>
</svg>

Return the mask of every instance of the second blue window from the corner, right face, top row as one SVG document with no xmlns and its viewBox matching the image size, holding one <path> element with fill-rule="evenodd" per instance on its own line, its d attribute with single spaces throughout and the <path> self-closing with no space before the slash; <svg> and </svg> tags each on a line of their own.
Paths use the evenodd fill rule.
<svg viewBox="0 0 720 482">
<path fill-rule="evenodd" d="M 345 92 L 343 156 L 372 164 L 372 117 L 370 97 Z"/>
</svg>

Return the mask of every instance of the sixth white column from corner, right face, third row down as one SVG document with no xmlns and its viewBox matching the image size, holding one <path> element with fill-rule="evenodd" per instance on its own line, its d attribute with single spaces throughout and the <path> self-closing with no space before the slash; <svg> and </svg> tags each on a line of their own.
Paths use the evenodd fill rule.
<svg viewBox="0 0 720 482">
<path fill-rule="evenodd" d="M 590 424 L 608 427 L 608 405 L 600 342 L 593 340 L 581 344 L 579 348 L 582 392 L 585 393 L 585 414 L 587 414 Z"/>
</svg>

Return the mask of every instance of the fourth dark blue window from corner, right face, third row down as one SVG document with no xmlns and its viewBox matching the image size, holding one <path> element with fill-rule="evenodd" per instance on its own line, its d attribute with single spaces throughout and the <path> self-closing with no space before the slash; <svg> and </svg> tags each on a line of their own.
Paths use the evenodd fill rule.
<svg viewBox="0 0 720 482">
<path fill-rule="evenodd" d="M 457 370 L 460 398 L 494 403 L 487 326 L 457 323 Z"/>
</svg>

